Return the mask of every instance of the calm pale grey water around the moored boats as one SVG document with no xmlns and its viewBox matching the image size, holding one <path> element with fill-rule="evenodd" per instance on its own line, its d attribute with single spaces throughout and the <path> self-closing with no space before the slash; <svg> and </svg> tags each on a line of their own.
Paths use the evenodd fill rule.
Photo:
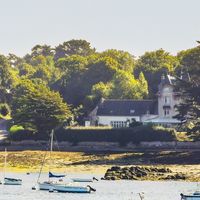
<svg viewBox="0 0 200 200">
<path fill-rule="evenodd" d="M 38 174 L 8 173 L 7 176 L 22 178 L 23 185 L 0 185 L 0 200 L 140 200 L 138 193 L 144 194 L 144 200 L 180 200 L 180 193 L 190 193 L 198 188 L 197 183 L 175 181 L 98 181 L 89 184 L 97 190 L 91 194 L 49 193 L 31 190 Z M 43 174 L 41 180 L 45 180 L 45 176 Z M 2 173 L 0 177 L 2 180 Z M 90 178 L 92 175 L 70 174 L 68 177 Z"/>
</svg>

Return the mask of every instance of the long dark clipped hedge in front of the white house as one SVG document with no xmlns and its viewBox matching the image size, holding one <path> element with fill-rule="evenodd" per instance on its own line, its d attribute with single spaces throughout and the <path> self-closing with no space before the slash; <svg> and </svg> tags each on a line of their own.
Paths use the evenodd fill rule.
<svg viewBox="0 0 200 200">
<path fill-rule="evenodd" d="M 59 129 L 56 131 L 58 141 L 68 141 L 73 145 L 79 142 L 118 142 L 126 145 L 129 142 L 138 144 L 141 141 L 174 141 L 175 133 L 172 129 L 158 129 L 153 126 L 138 126 L 124 129 Z M 18 131 L 11 135 L 12 140 L 47 140 L 42 135 L 35 135 L 27 131 Z"/>
</svg>

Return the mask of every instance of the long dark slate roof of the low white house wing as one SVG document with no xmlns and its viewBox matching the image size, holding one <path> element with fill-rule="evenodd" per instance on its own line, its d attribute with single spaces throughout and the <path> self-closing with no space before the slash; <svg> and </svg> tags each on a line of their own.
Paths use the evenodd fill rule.
<svg viewBox="0 0 200 200">
<path fill-rule="evenodd" d="M 97 116 L 141 116 L 147 112 L 157 114 L 157 105 L 155 100 L 106 99 L 99 104 Z"/>
</svg>

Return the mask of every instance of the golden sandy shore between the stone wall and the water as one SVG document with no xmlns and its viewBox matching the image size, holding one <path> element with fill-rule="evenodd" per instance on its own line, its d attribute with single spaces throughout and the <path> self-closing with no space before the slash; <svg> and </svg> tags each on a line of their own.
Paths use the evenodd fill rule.
<svg viewBox="0 0 200 200">
<path fill-rule="evenodd" d="M 151 154 L 150 154 L 151 155 Z M 137 153 L 84 153 L 84 152 L 53 152 L 50 154 L 45 151 L 15 151 L 7 153 L 7 171 L 14 172 L 38 172 L 45 160 L 43 171 L 49 170 L 51 165 L 52 171 L 62 171 L 65 173 L 94 173 L 104 174 L 106 170 L 112 166 L 156 166 L 168 167 L 174 173 L 184 173 L 190 177 L 190 181 L 200 180 L 200 165 L 192 163 L 192 160 L 184 163 L 171 164 L 173 158 L 170 154 L 164 158 L 165 163 L 155 162 L 156 156 L 152 157 L 144 152 Z M 176 154 L 175 154 L 176 155 Z M 0 169 L 3 171 L 4 167 L 4 152 L 0 152 Z M 157 155 L 158 156 L 158 155 Z M 177 155 L 176 155 L 177 156 Z M 159 158 L 163 158 L 163 152 L 159 154 Z M 154 160 L 153 160 L 154 159 Z M 187 159 L 186 159 L 187 160 Z M 161 160 L 162 161 L 162 160 Z M 192 163 L 192 164 L 191 164 Z"/>
</svg>

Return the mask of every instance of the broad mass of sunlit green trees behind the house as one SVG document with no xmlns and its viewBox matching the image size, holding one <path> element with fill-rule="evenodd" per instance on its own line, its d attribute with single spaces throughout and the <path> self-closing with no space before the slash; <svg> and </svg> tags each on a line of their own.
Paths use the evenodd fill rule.
<svg viewBox="0 0 200 200">
<path fill-rule="evenodd" d="M 200 47 L 177 56 L 159 49 L 136 59 L 116 49 L 97 52 L 85 40 L 56 47 L 36 45 L 22 58 L 0 55 L 0 102 L 11 106 L 14 124 L 49 132 L 66 121 L 83 123 L 101 98 L 156 98 L 163 73 L 180 77 L 189 72 L 191 80 L 183 86 L 183 94 L 185 106 L 198 105 L 188 111 L 198 128 L 199 58 Z"/>
</svg>

